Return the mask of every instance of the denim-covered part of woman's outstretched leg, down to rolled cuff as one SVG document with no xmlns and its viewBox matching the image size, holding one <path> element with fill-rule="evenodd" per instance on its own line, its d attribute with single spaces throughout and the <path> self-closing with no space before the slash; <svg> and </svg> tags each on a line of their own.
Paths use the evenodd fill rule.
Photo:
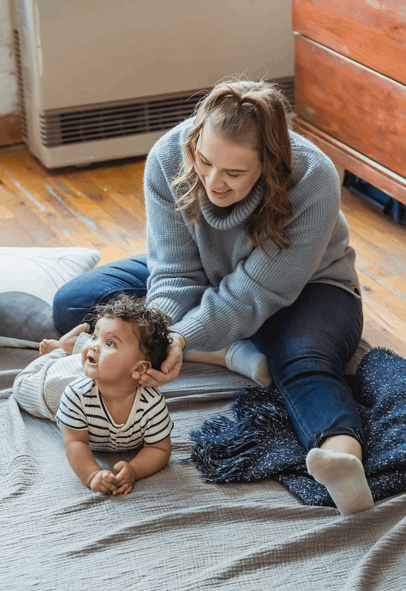
<svg viewBox="0 0 406 591">
<path fill-rule="evenodd" d="M 361 420 L 344 365 L 362 334 L 362 306 L 342 288 L 308 284 L 253 340 L 266 355 L 305 449 L 347 434 L 363 442 Z"/>
</svg>

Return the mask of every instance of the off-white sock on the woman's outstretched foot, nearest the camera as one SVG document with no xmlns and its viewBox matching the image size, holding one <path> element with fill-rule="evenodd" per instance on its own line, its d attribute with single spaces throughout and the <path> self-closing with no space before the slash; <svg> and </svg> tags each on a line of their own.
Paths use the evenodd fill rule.
<svg viewBox="0 0 406 591">
<path fill-rule="evenodd" d="M 352 515 L 374 506 L 364 466 L 355 456 L 315 448 L 307 454 L 306 465 L 309 475 L 326 487 L 341 515 Z"/>
</svg>

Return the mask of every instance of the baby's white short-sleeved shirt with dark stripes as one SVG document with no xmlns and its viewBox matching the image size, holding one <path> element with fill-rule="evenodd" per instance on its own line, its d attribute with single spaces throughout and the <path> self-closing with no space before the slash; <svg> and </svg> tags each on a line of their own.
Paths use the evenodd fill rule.
<svg viewBox="0 0 406 591">
<path fill-rule="evenodd" d="M 56 423 L 70 429 L 87 429 L 94 450 L 122 451 L 162 441 L 173 422 L 164 396 L 151 386 L 138 386 L 127 421 L 113 421 L 93 379 L 82 374 L 66 386 L 56 411 Z"/>
</svg>

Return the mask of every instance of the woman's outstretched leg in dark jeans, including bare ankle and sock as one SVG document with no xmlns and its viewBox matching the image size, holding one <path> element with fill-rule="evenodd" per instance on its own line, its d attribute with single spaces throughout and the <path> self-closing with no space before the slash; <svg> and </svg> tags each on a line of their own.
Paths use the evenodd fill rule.
<svg viewBox="0 0 406 591">
<path fill-rule="evenodd" d="M 254 337 L 297 436 L 310 449 L 309 473 L 343 515 L 373 505 L 360 461 L 362 424 L 343 371 L 361 333 L 359 300 L 336 286 L 309 284 Z"/>
</svg>

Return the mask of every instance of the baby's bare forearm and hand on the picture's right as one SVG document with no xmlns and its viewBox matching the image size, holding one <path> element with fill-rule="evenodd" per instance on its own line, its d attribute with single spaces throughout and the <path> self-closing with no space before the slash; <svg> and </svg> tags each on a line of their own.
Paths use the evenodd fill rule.
<svg viewBox="0 0 406 591">
<path fill-rule="evenodd" d="M 144 444 L 130 462 L 120 461 L 114 466 L 118 488 L 113 494 L 128 494 L 135 480 L 141 480 L 164 468 L 171 457 L 171 435 L 154 444 Z"/>
</svg>

